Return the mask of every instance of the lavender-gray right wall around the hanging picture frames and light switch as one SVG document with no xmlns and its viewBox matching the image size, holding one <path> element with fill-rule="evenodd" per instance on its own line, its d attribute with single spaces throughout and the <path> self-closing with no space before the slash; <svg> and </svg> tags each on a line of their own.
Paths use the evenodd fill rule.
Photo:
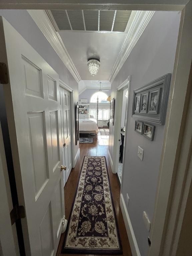
<svg viewBox="0 0 192 256">
<path fill-rule="evenodd" d="M 133 90 L 173 72 L 179 21 L 178 12 L 155 12 L 111 87 L 111 98 L 116 98 L 116 88 L 131 75 L 122 194 L 125 202 L 127 193 L 130 198 L 127 210 L 142 256 L 147 254 L 149 236 L 142 213 L 146 211 L 152 221 L 165 126 L 155 124 L 154 141 L 134 131 L 136 119 L 131 117 Z M 114 126 L 110 124 L 109 151 L 112 158 L 113 137 Z M 144 149 L 143 161 L 137 156 L 138 146 Z"/>
</svg>

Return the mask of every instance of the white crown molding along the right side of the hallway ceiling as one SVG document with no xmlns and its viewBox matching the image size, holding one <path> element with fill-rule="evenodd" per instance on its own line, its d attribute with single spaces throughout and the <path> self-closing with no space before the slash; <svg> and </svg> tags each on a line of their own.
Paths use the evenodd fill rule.
<svg viewBox="0 0 192 256">
<path fill-rule="evenodd" d="M 125 36 L 119 55 L 108 79 L 111 83 L 114 81 L 154 13 L 155 11 L 132 11 L 127 35 Z"/>
</svg>

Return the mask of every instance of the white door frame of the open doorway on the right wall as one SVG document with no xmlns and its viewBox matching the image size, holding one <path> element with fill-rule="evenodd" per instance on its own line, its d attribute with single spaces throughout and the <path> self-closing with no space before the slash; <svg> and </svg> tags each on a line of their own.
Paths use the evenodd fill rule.
<svg viewBox="0 0 192 256">
<path fill-rule="evenodd" d="M 117 173 L 117 170 L 118 170 L 119 138 L 120 138 L 119 136 L 120 136 L 120 130 L 121 130 L 122 100 L 123 100 L 123 91 L 126 89 L 128 89 L 128 98 L 127 98 L 127 109 L 126 109 L 125 138 L 127 136 L 127 117 L 128 117 L 128 111 L 129 111 L 130 82 L 131 82 L 131 76 L 128 76 L 128 78 L 117 87 L 117 94 L 116 94 L 116 101 L 115 101 L 116 107 L 115 107 L 114 147 L 113 147 L 113 166 L 112 166 L 113 173 Z M 125 152 L 125 150 L 123 150 L 123 152 Z M 124 161 L 123 161 L 123 166 L 124 166 Z"/>
</svg>

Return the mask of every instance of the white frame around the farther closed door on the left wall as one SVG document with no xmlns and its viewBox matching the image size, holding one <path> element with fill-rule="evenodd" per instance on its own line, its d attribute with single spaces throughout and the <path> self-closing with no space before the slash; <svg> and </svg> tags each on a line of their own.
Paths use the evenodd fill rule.
<svg viewBox="0 0 192 256">
<path fill-rule="evenodd" d="M 59 79 L 59 86 L 70 92 L 71 95 L 71 145 L 72 145 L 72 168 L 75 167 L 75 118 L 74 118 L 74 91 L 61 79 Z"/>
</svg>

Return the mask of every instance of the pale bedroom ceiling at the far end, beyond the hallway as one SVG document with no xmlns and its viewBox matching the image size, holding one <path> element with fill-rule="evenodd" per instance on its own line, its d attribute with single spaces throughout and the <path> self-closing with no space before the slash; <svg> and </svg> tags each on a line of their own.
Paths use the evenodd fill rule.
<svg viewBox="0 0 192 256">
<path fill-rule="evenodd" d="M 111 83 L 107 80 L 81 80 L 79 82 L 79 93 L 82 93 L 86 89 L 99 89 L 101 82 L 101 89 L 111 89 Z"/>
</svg>

